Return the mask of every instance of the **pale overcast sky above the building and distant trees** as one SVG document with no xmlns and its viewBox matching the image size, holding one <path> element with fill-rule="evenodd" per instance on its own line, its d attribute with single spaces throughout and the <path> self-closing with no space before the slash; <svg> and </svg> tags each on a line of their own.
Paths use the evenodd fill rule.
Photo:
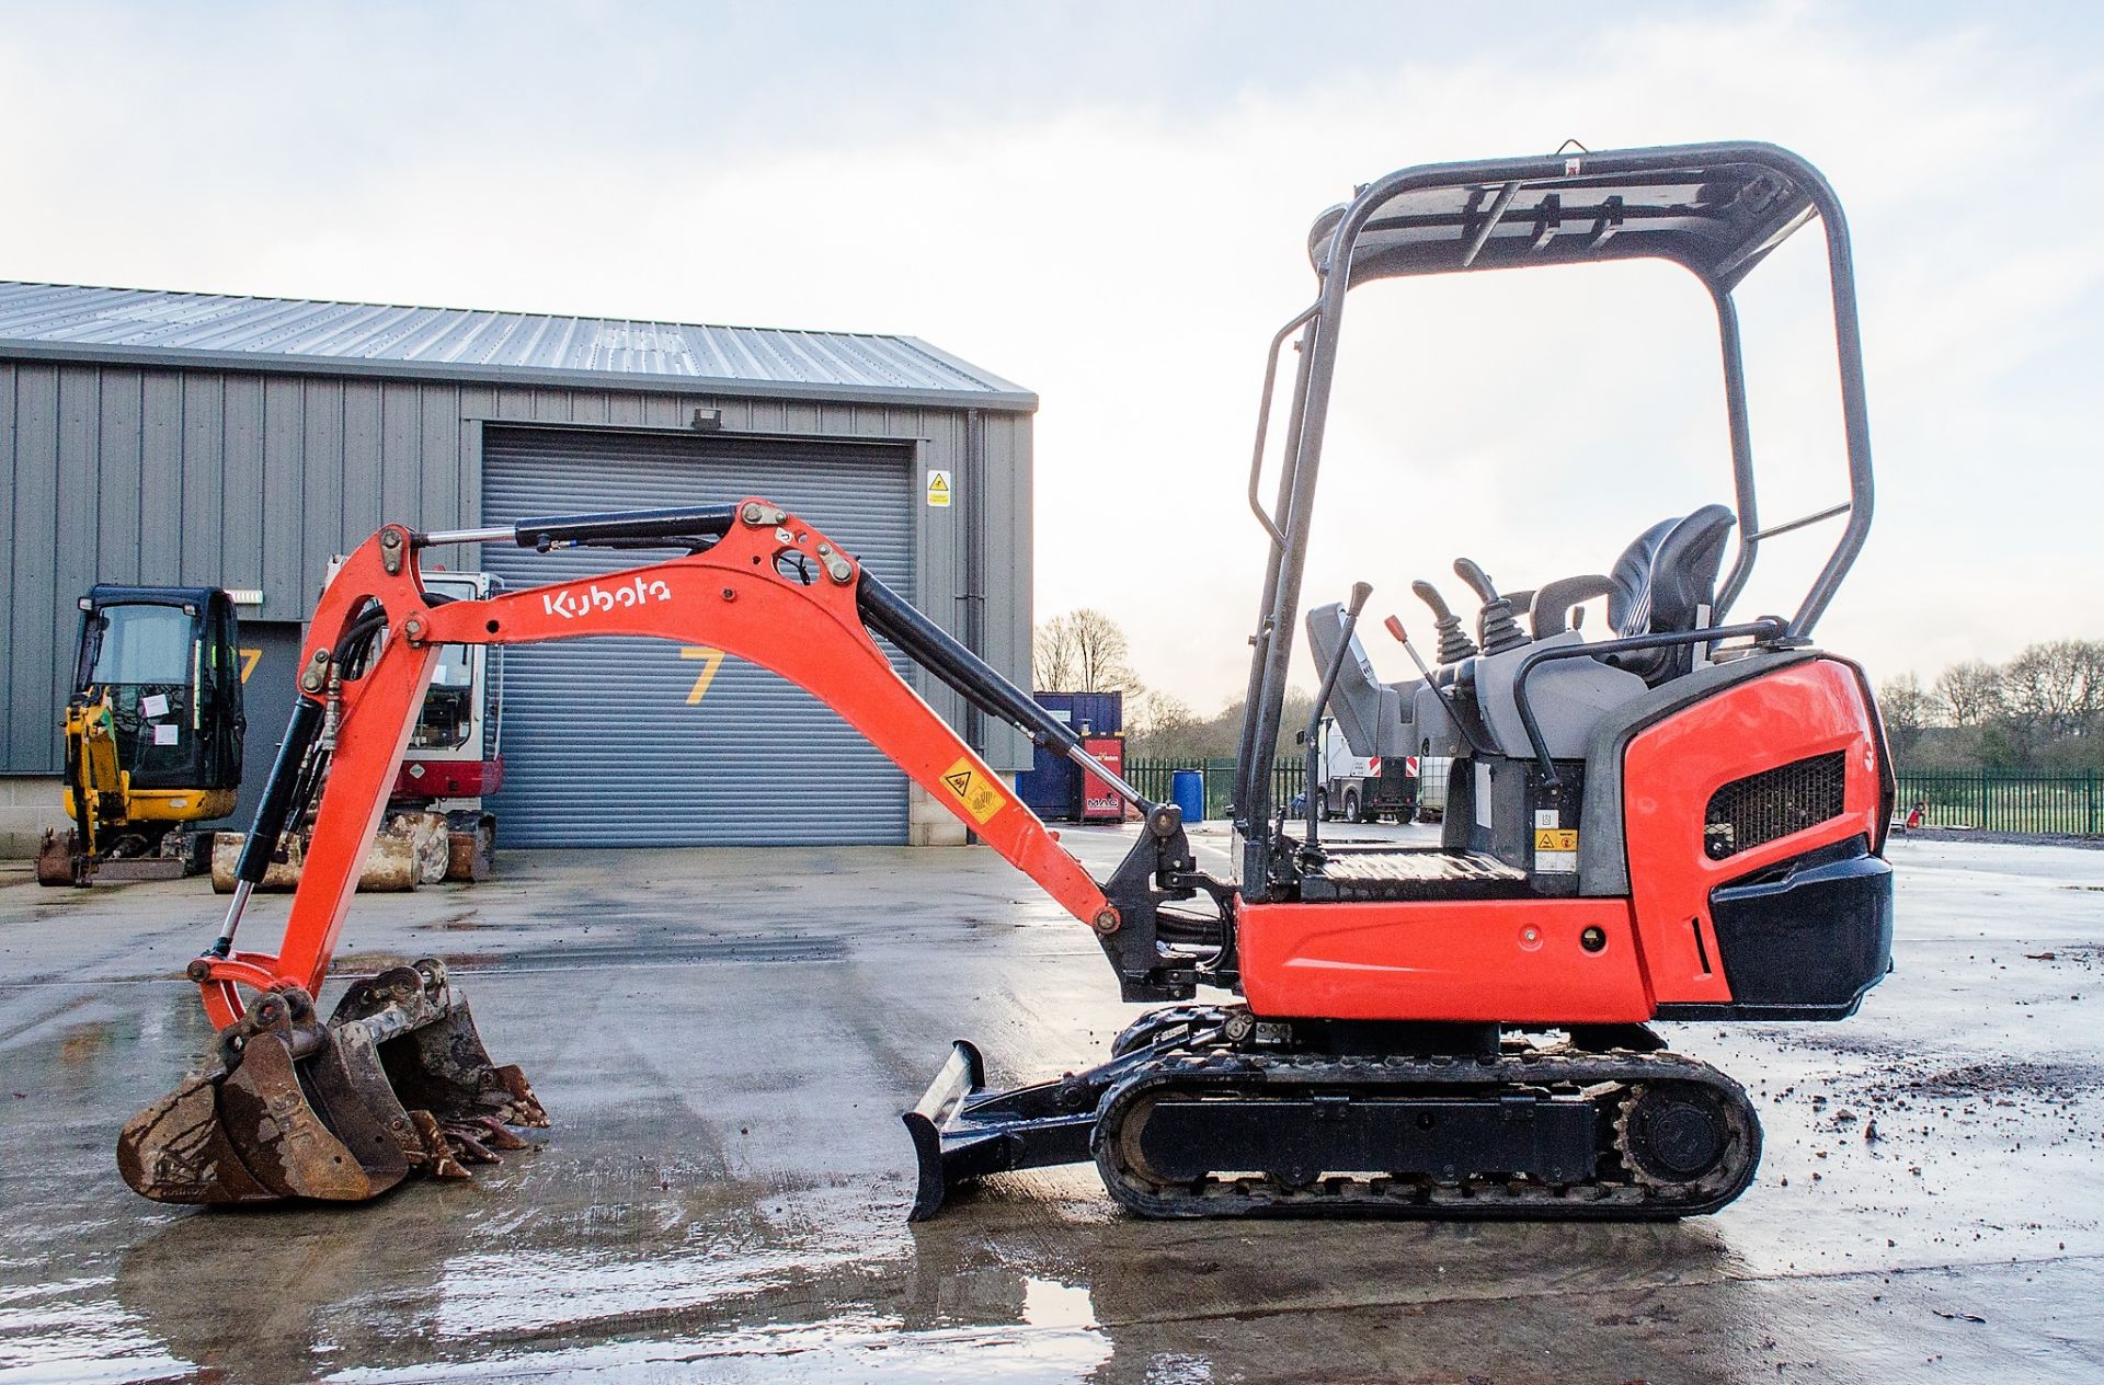
<svg viewBox="0 0 2104 1385">
<path fill-rule="evenodd" d="M 1999 11 L 2014 11 L 1999 13 Z M 909 333 L 1035 389 L 1037 615 L 1239 695 L 1304 240 L 1412 162 L 1767 139 L 1849 210 L 1885 676 L 2104 636 L 2087 4 L 0 4 L 0 278 Z M 1309 600 L 1603 570 L 1729 499 L 1715 318 L 1614 265 L 1361 295 Z M 1845 499 L 1824 263 L 1748 280 L 1763 518 Z M 1763 549 L 1795 608 L 1833 526 Z M 1399 650 L 1374 646 L 1384 676 Z M 1304 678 L 1304 674 L 1302 674 Z"/>
</svg>

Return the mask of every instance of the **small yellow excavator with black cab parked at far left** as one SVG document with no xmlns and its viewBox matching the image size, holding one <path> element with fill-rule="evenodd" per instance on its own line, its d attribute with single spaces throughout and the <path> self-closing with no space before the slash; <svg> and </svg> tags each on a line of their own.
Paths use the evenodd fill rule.
<svg viewBox="0 0 2104 1385">
<path fill-rule="evenodd" d="M 97 585 L 80 598 L 65 701 L 65 817 L 42 884 L 170 880 L 204 869 L 242 783 L 240 623 L 217 587 Z"/>
</svg>

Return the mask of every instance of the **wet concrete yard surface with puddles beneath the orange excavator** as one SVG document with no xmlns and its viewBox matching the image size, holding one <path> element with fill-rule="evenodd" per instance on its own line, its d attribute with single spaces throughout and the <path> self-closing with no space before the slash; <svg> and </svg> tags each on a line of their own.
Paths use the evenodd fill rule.
<svg viewBox="0 0 2104 1385">
<path fill-rule="evenodd" d="M 983 850 L 534 852 L 364 897 L 343 968 L 448 958 L 547 1145 L 364 1208 L 160 1208 L 112 1141 L 208 1042 L 170 977 L 219 901 L 0 874 L 0 1377 L 2096 1381 L 2104 852 L 1891 857 L 1900 970 L 1858 1019 L 1668 1031 L 1767 1153 L 1652 1227 L 1140 1223 L 1090 1168 L 907 1227 L 896 1111 L 949 1038 L 1037 1080 L 1132 1015 Z"/>
</svg>

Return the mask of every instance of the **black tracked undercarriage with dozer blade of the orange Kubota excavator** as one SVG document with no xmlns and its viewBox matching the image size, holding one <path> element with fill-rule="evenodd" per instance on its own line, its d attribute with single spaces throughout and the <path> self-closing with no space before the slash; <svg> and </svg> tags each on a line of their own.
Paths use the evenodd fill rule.
<svg viewBox="0 0 2104 1385">
<path fill-rule="evenodd" d="M 907 1113 L 913 1217 L 962 1181 L 1081 1160 L 1142 1217 L 1713 1212 L 1753 1181 L 1759 1118 L 1715 1067 L 1656 1052 L 1647 1029 L 1628 1038 L 1586 1050 L 1420 1025 L 1336 1050 L 1323 1025 L 1168 1006 L 1109 1063 L 1012 1092 L 987 1092 L 985 1061 L 957 1040 Z"/>
</svg>

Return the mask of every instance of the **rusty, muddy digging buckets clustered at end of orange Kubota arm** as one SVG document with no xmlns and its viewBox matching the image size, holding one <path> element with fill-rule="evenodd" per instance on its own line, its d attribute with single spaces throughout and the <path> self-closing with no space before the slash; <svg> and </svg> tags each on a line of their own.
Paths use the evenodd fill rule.
<svg viewBox="0 0 2104 1385">
<path fill-rule="evenodd" d="M 156 1202 L 364 1202 L 410 1172 L 524 1149 L 511 1126 L 547 1113 L 518 1067 L 490 1061 L 444 964 L 356 983 L 328 1023 L 299 987 L 271 991 L 219 1036 L 191 1078 L 118 1137 L 118 1170 Z"/>
</svg>

